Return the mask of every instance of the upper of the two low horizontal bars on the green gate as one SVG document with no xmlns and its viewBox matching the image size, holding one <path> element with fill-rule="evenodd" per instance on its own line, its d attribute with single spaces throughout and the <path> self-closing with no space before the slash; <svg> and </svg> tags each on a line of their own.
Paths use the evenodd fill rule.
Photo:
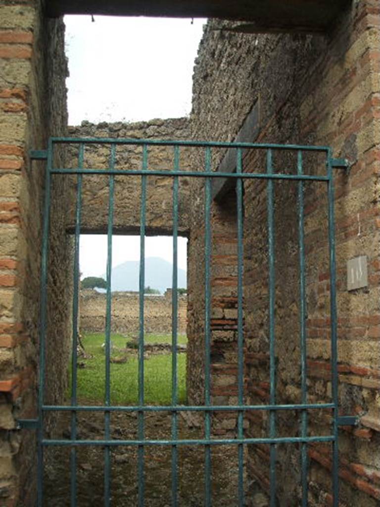
<svg viewBox="0 0 380 507">
<path fill-rule="evenodd" d="M 140 406 L 113 406 L 106 407 L 98 406 L 98 405 L 88 405 L 88 406 L 68 406 L 68 405 L 44 405 L 42 410 L 46 412 L 203 412 L 203 411 L 223 411 L 223 412 L 235 412 L 239 410 L 247 411 L 247 410 L 319 410 L 319 409 L 333 409 L 335 405 L 333 403 L 310 403 L 310 404 L 298 404 L 298 405 L 211 405 L 206 407 L 204 405 L 197 406 L 155 406 L 155 405 L 146 405 L 143 407 Z"/>
</svg>

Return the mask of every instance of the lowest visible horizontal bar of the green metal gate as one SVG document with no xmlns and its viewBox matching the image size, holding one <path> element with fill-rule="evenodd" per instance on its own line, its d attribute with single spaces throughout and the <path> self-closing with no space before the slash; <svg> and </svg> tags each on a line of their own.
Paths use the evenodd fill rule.
<svg viewBox="0 0 380 507">
<path fill-rule="evenodd" d="M 297 444 L 299 442 L 333 442 L 333 435 L 321 437 L 277 437 L 274 439 L 187 439 L 187 440 L 49 440 L 44 439 L 44 446 L 154 446 L 154 445 L 232 445 L 232 444 Z"/>
</svg>

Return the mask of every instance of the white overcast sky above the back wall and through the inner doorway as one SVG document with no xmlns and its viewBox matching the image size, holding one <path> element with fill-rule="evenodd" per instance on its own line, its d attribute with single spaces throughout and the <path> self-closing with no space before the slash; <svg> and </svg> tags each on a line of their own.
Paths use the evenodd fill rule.
<svg viewBox="0 0 380 507">
<path fill-rule="evenodd" d="M 65 16 L 69 125 L 189 115 L 194 60 L 205 19 Z M 113 237 L 112 265 L 138 260 L 139 238 Z M 178 266 L 186 269 L 186 238 Z M 148 237 L 146 257 L 172 262 L 172 239 Z M 82 276 L 106 267 L 106 237 L 81 236 Z"/>
</svg>

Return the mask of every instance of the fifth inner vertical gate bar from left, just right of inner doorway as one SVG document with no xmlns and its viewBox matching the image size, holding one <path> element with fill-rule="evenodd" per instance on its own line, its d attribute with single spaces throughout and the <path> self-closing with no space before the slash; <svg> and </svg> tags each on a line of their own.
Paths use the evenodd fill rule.
<svg viewBox="0 0 380 507">
<path fill-rule="evenodd" d="M 211 149 L 205 150 L 205 170 L 211 170 Z M 210 350 L 211 350 L 211 178 L 205 178 L 205 405 L 211 405 Z M 210 411 L 205 413 L 205 439 L 211 438 Z M 211 447 L 205 445 L 205 506 L 211 505 Z"/>
</svg>

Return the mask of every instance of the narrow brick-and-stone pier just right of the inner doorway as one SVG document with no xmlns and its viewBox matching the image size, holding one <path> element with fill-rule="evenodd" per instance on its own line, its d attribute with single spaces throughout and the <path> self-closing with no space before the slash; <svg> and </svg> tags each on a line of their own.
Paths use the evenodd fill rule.
<svg viewBox="0 0 380 507">
<path fill-rule="evenodd" d="M 193 223 L 188 242 L 188 344 L 187 395 L 189 404 L 204 403 L 205 378 L 205 198 L 198 179 L 193 209 L 202 220 Z M 216 405 L 237 403 L 237 216 L 235 191 L 210 212 L 211 395 Z M 236 428 L 233 413 L 218 412 L 212 429 L 217 435 Z"/>
</svg>

